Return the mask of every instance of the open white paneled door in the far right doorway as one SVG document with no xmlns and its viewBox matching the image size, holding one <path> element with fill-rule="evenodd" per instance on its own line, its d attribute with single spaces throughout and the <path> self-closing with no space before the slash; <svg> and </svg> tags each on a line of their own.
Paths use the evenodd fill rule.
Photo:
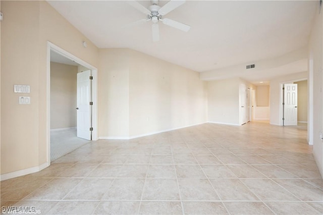
<svg viewBox="0 0 323 215">
<path fill-rule="evenodd" d="M 284 125 L 297 126 L 297 84 L 284 84 Z"/>
</svg>

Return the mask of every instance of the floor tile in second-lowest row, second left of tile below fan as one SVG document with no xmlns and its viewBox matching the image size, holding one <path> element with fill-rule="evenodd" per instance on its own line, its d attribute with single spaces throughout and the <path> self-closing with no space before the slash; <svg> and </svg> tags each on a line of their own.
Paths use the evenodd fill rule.
<svg viewBox="0 0 323 215">
<path fill-rule="evenodd" d="M 66 200 L 100 200 L 109 189 L 114 179 L 83 179 L 64 199 Z"/>
</svg>

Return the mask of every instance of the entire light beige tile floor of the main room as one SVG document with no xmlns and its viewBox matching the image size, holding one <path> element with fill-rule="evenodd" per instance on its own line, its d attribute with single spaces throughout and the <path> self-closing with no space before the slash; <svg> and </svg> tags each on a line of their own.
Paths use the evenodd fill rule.
<svg viewBox="0 0 323 215">
<path fill-rule="evenodd" d="M 2 206 L 42 214 L 322 214 L 306 130 L 203 124 L 98 140 L 1 182 Z"/>
</svg>

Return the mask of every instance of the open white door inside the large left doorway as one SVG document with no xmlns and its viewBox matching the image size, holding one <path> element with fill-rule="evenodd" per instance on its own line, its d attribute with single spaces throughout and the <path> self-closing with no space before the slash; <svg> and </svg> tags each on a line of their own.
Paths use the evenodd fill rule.
<svg viewBox="0 0 323 215">
<path fill-rule="evenodd" d="M 77 73 L 77 137 L 91 140 L 91 70 Z"/>
</svg>

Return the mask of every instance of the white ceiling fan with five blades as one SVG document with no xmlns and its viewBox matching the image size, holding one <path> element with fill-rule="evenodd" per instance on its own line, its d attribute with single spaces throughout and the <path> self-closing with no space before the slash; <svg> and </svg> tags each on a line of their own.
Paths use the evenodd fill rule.
<svg viewBox="0 0 323 215">
<path fill-rule="evenodd" d="M 152 41 L 154 42 L 159 41 L 159 25 L 158 25 L 159 21 L 161 21 L 165 25 L 171 26 L 173 28 L 177 28 L 185 32 L 190 30 L 191 27 L 189 25 L 185 25 L 175 20 L 163 18 L 163 16 L 165 16 L 169 12 L 183 5 L 185 3 L 185 0 L 171 0 L 163 7 L 158 6 L 158 3 L 159 3 L 158 0 L 152 0 L 150 2 L 152 5 L 149 6 L 148 9 L 136 1 L 129 1 L 129 4 L 135 9 L 137 9 L 138 11 L 146 14 L 147 16 L 146 19 L 139 20 L 133 24 L 152 21 L 152 25 L 151 25 Z M 133 24 L 130 24 L 130 25 L 133 25 Z"/>
</svg>

